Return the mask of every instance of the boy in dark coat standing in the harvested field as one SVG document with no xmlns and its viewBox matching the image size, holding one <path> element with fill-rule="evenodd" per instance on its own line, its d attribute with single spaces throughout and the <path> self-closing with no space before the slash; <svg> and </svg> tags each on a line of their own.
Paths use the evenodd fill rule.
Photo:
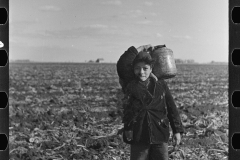
<svg viewBox="0 0 240 160">
<path fill-rule="evenodd" d="M 131 160 L 167 160 L 169 122 L 178 145 L 183 126 L 173 97 L 163 80 L 151 76 L 154 61 L 140 52 L 133 61 L 135 79 L 124 89 L 124 141 L 131 144 Z"/>
</svg>

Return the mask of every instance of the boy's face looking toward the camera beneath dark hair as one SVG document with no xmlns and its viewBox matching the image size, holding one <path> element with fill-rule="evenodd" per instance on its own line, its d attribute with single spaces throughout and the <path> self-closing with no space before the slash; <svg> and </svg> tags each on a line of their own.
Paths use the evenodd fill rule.
<svg viewBox="0 0 240 160">
<path fill-rule="evenodd" d="M 138 62 L 134 65 L 134 74 L 141 80 L 145 81 L 150 76 L 152 67 L 144 62 Z"/>
</svg>

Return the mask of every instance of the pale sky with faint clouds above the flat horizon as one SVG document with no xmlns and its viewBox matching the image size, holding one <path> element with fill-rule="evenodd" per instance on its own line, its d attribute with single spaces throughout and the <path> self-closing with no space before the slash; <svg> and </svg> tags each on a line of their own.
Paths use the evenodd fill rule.
<svg viewBox="0 0 240 160">
<path fill-rule="evenodd" d="M 228 61 L 227 0 L 10 0 L 10 60 L 116 62 L 130 46 Z"/>
</svg>

